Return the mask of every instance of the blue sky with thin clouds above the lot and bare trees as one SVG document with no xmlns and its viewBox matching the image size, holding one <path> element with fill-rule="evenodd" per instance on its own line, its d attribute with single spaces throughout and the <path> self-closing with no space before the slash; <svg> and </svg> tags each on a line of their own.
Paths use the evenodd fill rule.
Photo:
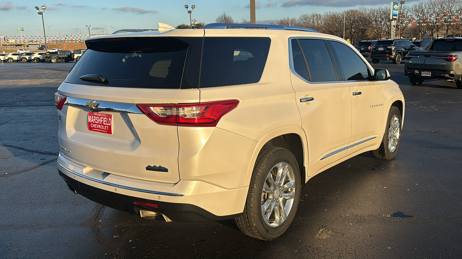
<svg viewBox="0 0 462 259">
<path fill-rule="evenodd" d="M 256 1 L 257 23 L 301 14 L 339 12 L 359 6 L 390 6 L 387 0 L 261 0 Z M 395 2 L 398 2 L 395 0 Z M 413 4 L 418 0 L 406 0 Z M 226 12 L 235 21 L 250 20 L 249 0 L 0 0 L 0 35 L 43 35 L 42 18 L 35 6 L 46 6 L 43 13 L 46 35 L 112 33 L 117 29 L 157 29 L 158 22 L 188 24 L 184 5 L 195 5 L 192 19 L 213 23 Z M 114 28 L 114 29 L 113 29 Z"/>
</svg>

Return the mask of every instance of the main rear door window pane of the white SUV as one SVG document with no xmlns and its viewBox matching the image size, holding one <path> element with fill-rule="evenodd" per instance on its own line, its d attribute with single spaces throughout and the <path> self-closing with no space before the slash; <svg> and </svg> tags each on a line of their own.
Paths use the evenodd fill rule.
<svg viewBox="0 0 462 259">
<path fill-rule="evenodd" d="M 297 41 L 302 48 L 305 62 L 308 65 L 310 81 L 337 81 L 334 63 L 325 41 L 311 39 L 300 39 Z"/>
</svg>

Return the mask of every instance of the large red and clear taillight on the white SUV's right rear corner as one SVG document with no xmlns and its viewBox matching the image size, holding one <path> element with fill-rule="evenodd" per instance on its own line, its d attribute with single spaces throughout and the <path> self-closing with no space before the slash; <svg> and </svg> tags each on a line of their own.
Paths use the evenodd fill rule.
<svg viewBox="0 0 462 259">
<path fill-rule="evenodd" d="M 186 127 L 214 127 L 220 118 L 236 108 L 238 100 L 193 104 L 137 104 L 157 124 Z"/>
</svg>

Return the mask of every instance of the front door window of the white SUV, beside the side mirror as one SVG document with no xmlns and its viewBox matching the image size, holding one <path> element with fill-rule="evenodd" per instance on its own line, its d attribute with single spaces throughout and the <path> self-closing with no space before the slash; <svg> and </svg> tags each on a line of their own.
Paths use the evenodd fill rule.
<svg viewBox="0 0 462 259">
<path fill-rule="evenodd" d="M 345 80 L 369 80 L 367 65 L 353 49 L 338 41 L 331 41 L 331 43 L 337 53 Z"/>
</svg>

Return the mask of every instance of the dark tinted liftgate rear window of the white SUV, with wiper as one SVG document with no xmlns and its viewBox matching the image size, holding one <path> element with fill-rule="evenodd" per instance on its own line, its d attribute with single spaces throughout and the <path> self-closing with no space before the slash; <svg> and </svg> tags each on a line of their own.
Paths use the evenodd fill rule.
<svg viewBox="0 0 462 259">
<path fill-rule="evenodd" d="M 128 37 L 86 44 L 85 55 L 74 65 L 65 82 L 104 85 L 79 79 L 97 74 L 111 87 L 198 88 L 201 37 Z"/>
</svg>

